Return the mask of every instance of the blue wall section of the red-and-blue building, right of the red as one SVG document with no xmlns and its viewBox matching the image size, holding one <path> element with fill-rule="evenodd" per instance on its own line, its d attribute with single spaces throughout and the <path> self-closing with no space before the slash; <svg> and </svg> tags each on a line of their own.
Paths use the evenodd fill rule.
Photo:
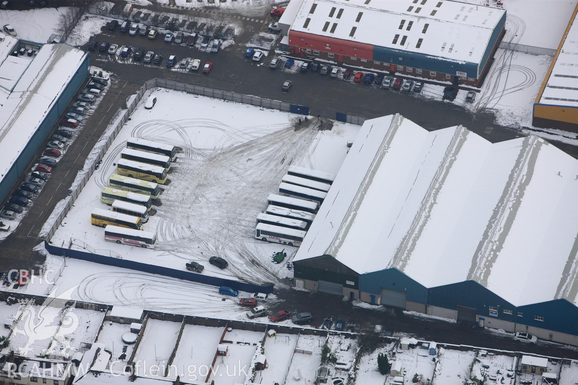
<svg viewBox="0 0 578 385">
<path fill-rule="evenodd" d="M 468 77 L 472 79 L 477 79 L 478 63 L 455 62 L 439 57 L 392 50 L 391 48 L 379 46 L 373 47 L 373 60 L 454 75 L 455 72 L 460 71 L 467 73 Z"/>
</svg>

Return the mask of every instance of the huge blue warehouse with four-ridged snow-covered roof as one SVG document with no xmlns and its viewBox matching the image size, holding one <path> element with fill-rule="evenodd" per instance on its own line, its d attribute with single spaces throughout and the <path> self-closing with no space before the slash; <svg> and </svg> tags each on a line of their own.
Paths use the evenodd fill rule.
<svg viewBox="0 0 578 385">
<path fill-rule="evenodd" d="M 400 115 L 365 121 L 294 285 L 578 345 L 578 163 Z"/>
</svg>

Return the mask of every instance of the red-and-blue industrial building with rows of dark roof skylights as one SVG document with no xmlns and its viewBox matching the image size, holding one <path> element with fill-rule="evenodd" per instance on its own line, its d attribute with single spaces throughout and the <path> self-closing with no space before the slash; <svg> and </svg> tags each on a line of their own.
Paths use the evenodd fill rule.
<svg viewBox="0 0 578 385">
<path fill-rule="evenodd" d="M 506 22 L 503 9 L 450 0 L 292 0 L 286 14 L 281 46 L 292 54 L 469 85 L 481 83 Z"/>
</svg>

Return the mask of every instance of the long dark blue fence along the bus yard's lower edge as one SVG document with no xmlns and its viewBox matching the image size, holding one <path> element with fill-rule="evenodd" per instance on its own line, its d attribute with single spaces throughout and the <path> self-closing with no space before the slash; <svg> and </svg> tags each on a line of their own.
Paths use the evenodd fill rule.
<svg viewBox="0 0 578 385">
<path fill-rule="evenodd" d="M 173 268 L 150 265 L 146 263 L 131 261 L 127 259 L 120 259 L 108 257 L 105 255 L 88 253 L 86 251 L 65 249 L 58 246 L 44 242 L 46 250 L 52 255 L 60 255 L 64 257 L 71 257 L 83 261 L 90 261 L 100 263 L 108 266 L 122 267 L 131 270 L 147 272 L 150 274 L 160 274 L 170 276 L 171 278 L 184 279 L 186 281 L 204 283 L 212 286 L 229 286 L 240 291 L 249 291 L 271 294 L 273 293 L 273 283 L 257 285 L 255 283 L 239 282 L 233 279 L 218 278 L 216 276 L 197 274 L 186 270 L 175 270 Z"/>
</svg>

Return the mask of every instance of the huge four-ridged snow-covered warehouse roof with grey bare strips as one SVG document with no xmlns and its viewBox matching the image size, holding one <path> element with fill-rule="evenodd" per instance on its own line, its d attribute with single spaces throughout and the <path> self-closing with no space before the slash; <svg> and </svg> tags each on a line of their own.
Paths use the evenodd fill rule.
<svg viewBox="0 0 578 385">
<path fill-rule="evenodd" d="M 474 280 L 515 306 L 578 304 L 576 162 L 536 136 L 491 144 L 463 126 L 370 119 L 294 260 L 397 268 L 426 287 Z"/>
</svg>

